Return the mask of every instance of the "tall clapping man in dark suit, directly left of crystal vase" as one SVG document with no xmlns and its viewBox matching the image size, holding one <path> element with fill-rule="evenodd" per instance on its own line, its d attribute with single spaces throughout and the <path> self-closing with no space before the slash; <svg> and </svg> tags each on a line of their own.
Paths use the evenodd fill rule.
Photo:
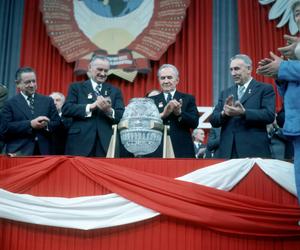
<svg viewBox="0 0 300 250">
<path fill-rule="evenodd" d="M 124 112 L 121 91 L 105 82 L 109 70 L 106 57 L 95 55 L 89 64 L 90 80 L 71 84 L 62 108 L 73 119 L 68 131 L 66 154 L 105 157 L 112 125 Z"/>
</svg>

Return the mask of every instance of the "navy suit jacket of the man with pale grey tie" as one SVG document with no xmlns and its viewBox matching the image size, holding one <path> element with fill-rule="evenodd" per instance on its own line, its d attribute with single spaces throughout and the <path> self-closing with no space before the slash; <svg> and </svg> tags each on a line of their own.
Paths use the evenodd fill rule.
<svg viewBox="0 0 300 250">
<path fill-rule="evenodd" d="M 272 85 L 252 80 L 241 99 L 246 109 L 244 116 L 222 117 L 225 100 L 233 95 L 237 100 L 237 86 L 222 91 L 210 122 L 213 127 L 221 127 L 218 157 L 231 158 L 235 143 L 239 158 L 270 158 L 266 125 L 275 119 L 275 92 Z"/>
</svg>

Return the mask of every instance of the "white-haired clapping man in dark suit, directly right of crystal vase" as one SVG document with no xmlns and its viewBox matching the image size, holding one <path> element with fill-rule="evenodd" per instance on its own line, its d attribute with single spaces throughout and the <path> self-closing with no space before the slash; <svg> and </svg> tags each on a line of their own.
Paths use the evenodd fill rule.
<svg viewBox="0 0 300 250">
<path fill-rule="evenodd" d="M 151 98 L 158 107 L 164 125 L 170 126 L 175 157 L 195 158 L 190 131 L 198 126 L 199 121 L 195 98 L 176 90 L 179 73 L 175 66 L 164 64 L 157 75 L 162 93 Z M 161 156 L 161 152 L 162 147 L 159 147 L 155 154 Z"/>
</svg>

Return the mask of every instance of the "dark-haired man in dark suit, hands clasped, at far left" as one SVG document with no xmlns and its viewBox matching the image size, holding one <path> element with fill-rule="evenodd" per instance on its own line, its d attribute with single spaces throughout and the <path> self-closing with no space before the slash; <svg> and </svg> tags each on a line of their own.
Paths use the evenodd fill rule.
<svg viewBox="0 0 300 250">
<path fill-rule="evenodd" d="M 6 153 L 13 155 L 50 154 L 50 134 L 59 125 L 53 100 L 36 93 L 36 74 L 32 68 L 16 72 L 20 93 L 7 100 L 2 115 L 7 122 Z"/>
</svg>

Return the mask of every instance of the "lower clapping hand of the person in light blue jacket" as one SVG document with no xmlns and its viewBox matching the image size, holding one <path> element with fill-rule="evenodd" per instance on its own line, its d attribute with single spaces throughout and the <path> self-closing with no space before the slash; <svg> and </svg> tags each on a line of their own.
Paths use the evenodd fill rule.
<svg viewBox="0 0 300 250">
<path fill-rule="evenodd" d="M 264 58 L 258 63 L 256 73 L 259 75 L 277 78 L 279 65 L 283 59 L 273 52 L 270 52 L 271 58 Z"/>
</svg>

